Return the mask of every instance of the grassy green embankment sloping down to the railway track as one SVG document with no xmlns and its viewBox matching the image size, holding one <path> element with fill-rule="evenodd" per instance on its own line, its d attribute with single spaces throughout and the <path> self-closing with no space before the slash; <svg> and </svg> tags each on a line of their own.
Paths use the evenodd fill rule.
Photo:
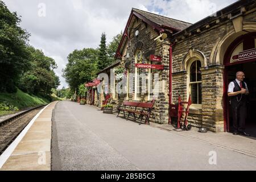
<svg viewBox="0 0 256 182">
<path fill-rule="evenodd" d="M 18 109 L 24 109 L 27 107 L 34 107 L 49 103 L 46 98 L 40 96 L 30 95 L 17 89 L 16 93 L 0 93 L 0 103 L 6 102 Z"/>
</svg>

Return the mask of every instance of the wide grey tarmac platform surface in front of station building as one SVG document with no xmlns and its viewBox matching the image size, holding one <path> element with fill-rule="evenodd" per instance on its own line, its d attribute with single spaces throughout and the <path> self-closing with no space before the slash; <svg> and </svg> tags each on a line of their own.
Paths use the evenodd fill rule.
<svg viewBox="0 0 256 182">
<path fill-rule="evenodd" d="M 220 134 L 218 138 L 219 134 L 191 132 L 189 135 L 156 125 L 139 126 L 114 114 L 103 114 L 93 106 L 61 101 L 56 105 L 53 122 L 52 169 L 256 169 L 256 158 L 251 151 L 255 140 L 230 134 Z M 225 140 L 222 145 L 218 144 L 221 140 Z M 230 143 L 236 144 L 230 147 Z M 239 151 L 243 146 L 250 154 Z M 209 163 L 212 159 L 209 152 L 216 154 L 216 165 Z"/>
</svg>

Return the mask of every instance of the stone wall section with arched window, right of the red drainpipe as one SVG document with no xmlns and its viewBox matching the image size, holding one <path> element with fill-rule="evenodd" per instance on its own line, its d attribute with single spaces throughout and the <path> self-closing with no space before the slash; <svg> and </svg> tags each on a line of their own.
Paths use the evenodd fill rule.
<svg viewBox="0 0 256 182">
<path fill-rule="evenodd" d="M 189 82 L 200 82 L 200 102 L 193 101 L 188 118 L 194 126 L 207 127 L 216 132 L 226 130 L 224 55 L 233 40 L 255 31 L 255 19 L 255 1 L 238 1 L 218 11 L 216 16 L 208 17 L 173 36 L 174 102 L 177 94 L 187 100 L 193 90 L 197 92 L 191 88 L 195 84 Z M 197 65 L 197 74 L 201 78 L 191 81 L 191 66 L 196 61 L 200 65 Z"/>
</svg>

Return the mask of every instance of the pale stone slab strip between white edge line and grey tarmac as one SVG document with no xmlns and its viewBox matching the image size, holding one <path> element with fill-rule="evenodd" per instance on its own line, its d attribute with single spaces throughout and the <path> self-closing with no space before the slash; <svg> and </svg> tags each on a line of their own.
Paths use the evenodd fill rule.
<svg viewBox="0 0 256 182">
<path fill-rule="evenodd" d="M 49 104 L 36 118 L 0 170 L 51 170 L 51 118 L 55 104 Z"/>
</svg>

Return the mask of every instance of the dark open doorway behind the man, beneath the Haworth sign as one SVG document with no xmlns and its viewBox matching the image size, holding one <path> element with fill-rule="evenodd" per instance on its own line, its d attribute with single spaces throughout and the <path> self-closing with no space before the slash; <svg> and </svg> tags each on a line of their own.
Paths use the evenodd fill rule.
<svg viewBox="0 0 256 182">
<path fill-rule="evenodd" d="M 226 85 L 228 85 L 236 78 L 236 73 L 238 71 L 243 71 L 245 73 L 244 81 L 246 82 L 250 92 L 250 94 L 246 96 L 246 133 L 249 133 L 251 134 L 251 137 L 256 138 L 256 61 L 226 67 Z M 229 98 L 226 103 L 228 104 L 228 129 L 229 132 L 233 132 L 233 118 L 231 114 Z"/>
</svg>

